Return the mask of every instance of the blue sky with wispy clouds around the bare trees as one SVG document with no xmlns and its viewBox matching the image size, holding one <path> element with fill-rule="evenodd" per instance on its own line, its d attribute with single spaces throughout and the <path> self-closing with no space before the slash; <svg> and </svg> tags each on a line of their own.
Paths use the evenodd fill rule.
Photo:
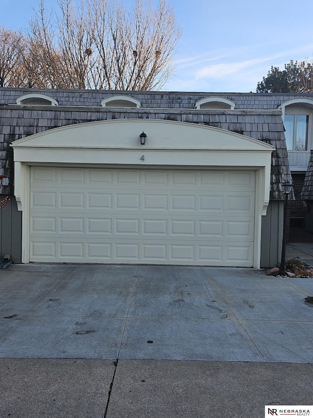
<svg viewBox="0 0 313 418">
<path fill-rule="evenodd" d="M 313 59 L 312 0 L 168 1 L 183 34 L 176 72 L 163 90 L 255 92 L 271 65 Z M 0 0 L 0 25 L 25 26 L 37 4 Z"/>
</svg>

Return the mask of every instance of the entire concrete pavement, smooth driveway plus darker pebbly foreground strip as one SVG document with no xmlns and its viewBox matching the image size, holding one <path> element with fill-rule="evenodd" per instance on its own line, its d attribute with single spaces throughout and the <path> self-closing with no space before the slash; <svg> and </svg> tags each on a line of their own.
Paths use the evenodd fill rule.
<svg viewBox="0 0 313 418">
<path fill-rule="evenodd" d="M 265 405 L 310 405 L 307 295 L 312 279 L 253 269 L 0 270 L 0 418 L 260 418 Z"/>
</svg>

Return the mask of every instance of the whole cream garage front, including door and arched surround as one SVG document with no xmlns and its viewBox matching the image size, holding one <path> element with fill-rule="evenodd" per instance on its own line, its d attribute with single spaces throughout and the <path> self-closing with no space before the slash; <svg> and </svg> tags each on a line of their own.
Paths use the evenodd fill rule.
<svg viewBox="0 0 313 418">
<path fill-rule="evenodd" d="M 115 120 L 13 148 L 23 262 L 259 266 L 268 144 L 192 123 Z"/>
</svg>

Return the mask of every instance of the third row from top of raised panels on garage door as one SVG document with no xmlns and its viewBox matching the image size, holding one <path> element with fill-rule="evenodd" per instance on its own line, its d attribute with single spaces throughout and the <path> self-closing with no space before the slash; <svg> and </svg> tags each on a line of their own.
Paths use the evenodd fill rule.
<svg viewBox="0 0 313 418">
<path fill-rule="evenodd" d="M 159 216 L 158 218 L 140 219 L 135 215 L 128 215 L 121 218 L 113 214 L 112 217 L 99 217 L 91 215 L 81 217 L 68 216 L 66 213 L 61 216 L 37 216 L 31 217 L 31 233 L 35 237 L 55 234 L 58 237 L 67 234 L 74 236 L 84 235 L 109 235 L 117 234 L 120 238 L 128 235 L 150 236 L 155 240 L 159 237 L 179 237 L 186 236 L 189 240 L 198 240 L 199 237 L 205 239 L 214 238 L 224 240 L 225 237 L 231 240 L 241 240 L 243 238 L 253 240 L 253 219 L 235 218 L 221 221 L 219 217 L 201 217 L 198 220 L 190 220 L 184 217 L 172 216 L 170 219 Z M 200 218 L 200 217 L 199 217 Z"/>
</svg>

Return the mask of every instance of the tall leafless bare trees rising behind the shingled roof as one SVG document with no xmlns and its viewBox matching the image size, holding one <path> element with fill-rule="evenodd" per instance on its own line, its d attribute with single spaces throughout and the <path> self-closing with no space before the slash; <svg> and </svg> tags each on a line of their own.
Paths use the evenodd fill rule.
<svg viewBox="0 0 313 418">
<path fill-rule="evenodd" d="M 173 74 L 181 30 L 166 0 L 134 0 L 131 11 L 119 0 L 57 5 L 40 0 L 25 36 L 0 28 L 0 85 L 151 90 Z"/>
</svg>

